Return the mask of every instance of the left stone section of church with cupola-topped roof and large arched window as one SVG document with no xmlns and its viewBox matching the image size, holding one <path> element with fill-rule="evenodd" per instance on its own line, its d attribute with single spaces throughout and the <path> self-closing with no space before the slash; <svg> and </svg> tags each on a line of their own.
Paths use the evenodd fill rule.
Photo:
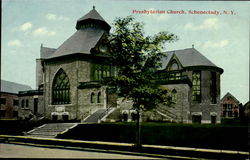
<svg viewBox="0 0 250 160">
<path fill-rule="evenodd" d="M 112 68 L 99 50 L 111 27 L 93 6 L 77 20 L 75 28 L 57 49 L 41 46 L 38 73 L 43 76 L 37 77 L 48 119 L 82 120 L 108 105 L 106 89 L 97 83 L 111 75 Z"/>
</svg>

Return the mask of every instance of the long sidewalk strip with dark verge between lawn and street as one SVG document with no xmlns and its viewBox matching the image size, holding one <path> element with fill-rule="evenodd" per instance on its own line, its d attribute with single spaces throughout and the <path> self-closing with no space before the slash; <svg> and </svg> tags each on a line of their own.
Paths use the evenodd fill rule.
<svg viewBox="0 0 250 160">
<path fill-rule="evenodd" d="M 136 148 L 131 143 L 100 142 L 100 141 L 81 141 L 56 138 L 38 138 L 26 136 L 0 135 L 0 142 L 14 144 L 32 144 L 42 145 L 44 147 L 66 146 L 71 149 L 94 148 L 105 152 L 119 152 L 123 154 L 144 154 L 154 157 L 193 157 L 193 158 L 212 158 L 212 159 L 247 159 L 248 152 L 201 149 L 175 146 L 142 145 L 142 148 Z M 64 147 L 65 148 L 65 147 Z M 183 158 L 182 158 L 183 159 Z"/>
</svg>

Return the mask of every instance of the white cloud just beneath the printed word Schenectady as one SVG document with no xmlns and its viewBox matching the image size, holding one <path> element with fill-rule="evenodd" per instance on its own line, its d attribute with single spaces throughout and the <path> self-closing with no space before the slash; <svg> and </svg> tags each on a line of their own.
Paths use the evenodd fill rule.
<svg viewBox="0 0 250 160">
<path fill-rule="evenodd" d="M 217 18 L 207 18 L 200 25 L 195 25 L 193 23 L 187 23 L 184 26 L 185 30 L 202 30 L 202 29 L 219 29 L 221 24 Z"/>
</svg>

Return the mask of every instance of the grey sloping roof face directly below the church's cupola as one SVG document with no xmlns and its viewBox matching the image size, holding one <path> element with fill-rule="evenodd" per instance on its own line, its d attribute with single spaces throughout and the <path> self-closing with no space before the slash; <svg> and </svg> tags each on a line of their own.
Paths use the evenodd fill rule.
<svg viewBox="0 0 250 160">
<path fill-rule="evenodd" d="M 75 53 L 90 54 L 91 48 L 96 46 L 104 33 L 104 30 L 97 28 L 77 30 L 48 58 L 61 57 Z"/>
</svg>

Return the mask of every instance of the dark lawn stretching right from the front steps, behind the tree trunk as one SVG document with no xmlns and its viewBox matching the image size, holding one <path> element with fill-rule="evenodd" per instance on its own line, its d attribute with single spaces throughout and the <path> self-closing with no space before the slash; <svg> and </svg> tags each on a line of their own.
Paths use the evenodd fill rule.
<svg viewBox="0 0 250 160">
<path fill-rule="evenodd" d="M 142 144 L 246 151 L 247 126 L 142 123 Z M 135 123 L 79 124 L 58 138 L 134 143 Z"/>
</svg>

